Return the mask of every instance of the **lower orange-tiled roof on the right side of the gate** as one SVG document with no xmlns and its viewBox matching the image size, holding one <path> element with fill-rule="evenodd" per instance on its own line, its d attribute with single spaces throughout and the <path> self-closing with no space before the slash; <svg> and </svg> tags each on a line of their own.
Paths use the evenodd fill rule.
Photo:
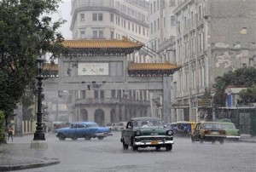
<svg viewBox="0 0 256 172">
<path fill-rule="evenodd" d="M 130 76 L 170 76 L 182 66 L 172 63 L 130 63 L 128 74 Z"/>
</svg>

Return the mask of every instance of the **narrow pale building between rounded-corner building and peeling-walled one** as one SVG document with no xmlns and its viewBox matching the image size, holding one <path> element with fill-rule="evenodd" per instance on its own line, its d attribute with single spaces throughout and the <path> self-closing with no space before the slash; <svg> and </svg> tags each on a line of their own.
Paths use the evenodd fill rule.
<svg viewBox="0 0 256 172">
<path fill-rule="evenodd" d="M 174 0 L 149 0 L 149 43 L 148 47 L 154 51 L 151 62 L 159 63 L 176 63 L 175 60 L 175 36 L 176 36 L 176 20 L 172 11 L 175 9 Z M 163 95 L 156 92 L 151 95 L 154 102 L 157 102 L 160 106 L 154 106 L 153 108 L 161 114 L 166 122 L 171 122 L 174 119 L 171 114 L 164 114 L 162 106 L 171 106 L 172 102 L 166 101 L 164 96 L 172 96 L 171 100 L 175 97 L 175 78 L 166 77 L 165 82 L 172 83 L 170 89 L 170 95 Z M 163 83 L 166 85 L 167 83 Z M 167 84 L 169 85 L 169 84 Z M 165 101 L 164 101 L 165 100 Z M 160 107 L 160 108 L 159 108 Z M 155 111 L 155 110 L 154 110 Z M 172 112 L 173 113 L 173 112 Z"/>
</svg>

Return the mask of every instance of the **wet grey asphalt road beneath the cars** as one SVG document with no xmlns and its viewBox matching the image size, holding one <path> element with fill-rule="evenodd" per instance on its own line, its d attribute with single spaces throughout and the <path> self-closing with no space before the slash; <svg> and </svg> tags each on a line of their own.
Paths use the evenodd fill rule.
<svg viewBox="0 0 256 172">
<path fill-rule="evenodd" d="M 256 144 L 245 142 L 191 143 L 189 138 L 174 139 L 172 152 L 162 148 L 131 147 L 123 150 L 120 132 L 104 140 L 60 141 L 55 135 L 46 140 L 61 163 L 20 171 L 85 171 L 85 172 L 158 172 L 158 171 L 255 171 Z"/>
</svg>

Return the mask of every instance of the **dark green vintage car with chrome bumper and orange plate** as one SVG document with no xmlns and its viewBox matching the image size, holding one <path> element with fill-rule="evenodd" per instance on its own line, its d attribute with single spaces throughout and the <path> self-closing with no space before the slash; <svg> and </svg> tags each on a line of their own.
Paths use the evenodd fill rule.
<svg viewBox="0 0 256 172">
<path fill-rule="evenodd" d="M 132 147 L 137 151 L 138 147 L 166 147 L 166 151 L 172 150 L 172 130 L 166 128 L 166 124 L 160 118 L 132 118 L 121 131 L 123 148 Z"/>
</svg>

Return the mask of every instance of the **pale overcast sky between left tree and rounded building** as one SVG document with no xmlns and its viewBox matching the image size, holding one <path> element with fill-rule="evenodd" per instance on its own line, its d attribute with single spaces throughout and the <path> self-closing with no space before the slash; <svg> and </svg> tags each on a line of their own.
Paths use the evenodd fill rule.
<svg viewBox="0 0 256 172">
<path fill-rule="evenodd" d="M 58 14 L 52 15 L 52 18 L 53 20 L 58 20 L 60 18 L 67 20 L 67 22 L 61 26 L 60 32 L 65 39 L 72 39 L 72 33 L 69 30 L 71 24 L 71 0 L 62 0 L 62 3 L 60 3 L 59 6 Z"/>
</svg>

